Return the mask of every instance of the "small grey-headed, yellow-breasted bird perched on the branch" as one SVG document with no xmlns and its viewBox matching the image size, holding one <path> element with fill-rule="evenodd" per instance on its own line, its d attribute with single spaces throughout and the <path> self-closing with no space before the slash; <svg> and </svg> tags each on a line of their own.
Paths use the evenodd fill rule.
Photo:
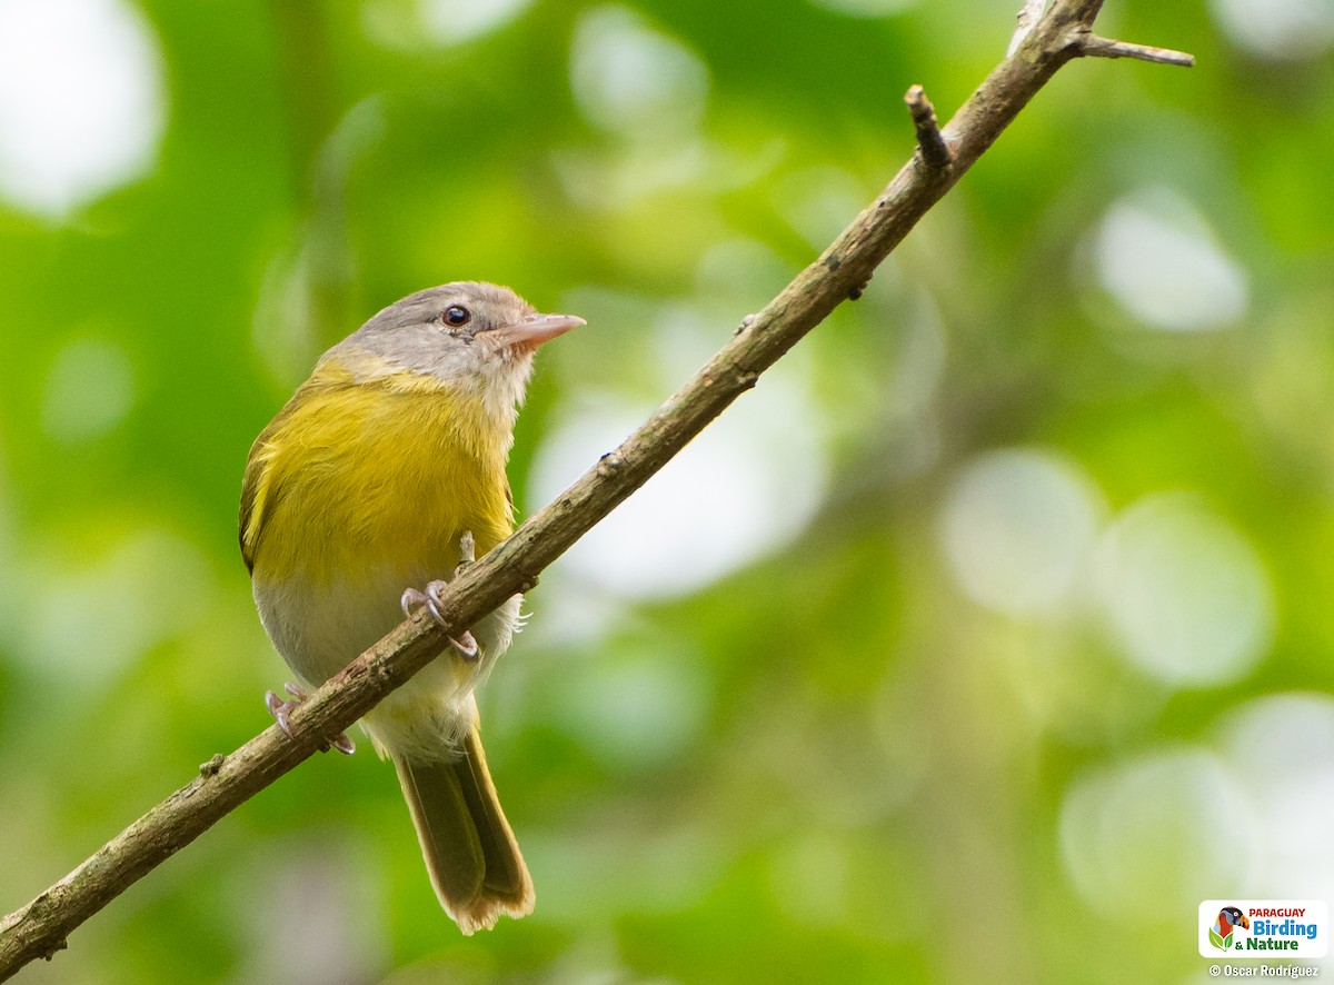
<svg viewBox="0 0 1334 985">
<path fill-rule="evenodd" d="M 432 579 L 452 574 L 470 535 L 486 553 L 512 531 L 506 462 L 532 354 L 580 324 L 495 284 L 418 291 L 325 352 L 255 439 L 241 555 L 264 630 L 303 686 L 394 629 L 400 605 L 434 613 Z M 436 896 L 466 934 L 532 912 L 474 697 L 519 603 L 459 634 L 363 723 L 398 769 Z M 269 695 L 269 707 L 285 730 L 291 705 Z M 351 751 L 346 737 L 334 745 Z"/>
</svg>

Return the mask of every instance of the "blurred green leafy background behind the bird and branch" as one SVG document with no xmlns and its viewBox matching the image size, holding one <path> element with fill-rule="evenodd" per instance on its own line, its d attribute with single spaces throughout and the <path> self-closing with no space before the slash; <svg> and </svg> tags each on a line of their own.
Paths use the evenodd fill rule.
<svg viewBox="0 0 1334 985">
<path fill-rule="evenodd" d="M 236 498 L 323 348 L 454 279 L 584 315 L 520 419 L 531 511 L 1018 5 L 124 3 L 48 9 L 147 39 L 141 166 L 52 206 L 0 155 L 0 910 L 268 725 Z M 1109 3 L 1199 65 L 1063 69 L 547 573 L 483 695 L 532 917 L 458 934 L 363 742 L 20 980 L 1194 981 L 1201 900 L 1334 901 L 1334 28 L 1255 7 Z"/>
</svg>

